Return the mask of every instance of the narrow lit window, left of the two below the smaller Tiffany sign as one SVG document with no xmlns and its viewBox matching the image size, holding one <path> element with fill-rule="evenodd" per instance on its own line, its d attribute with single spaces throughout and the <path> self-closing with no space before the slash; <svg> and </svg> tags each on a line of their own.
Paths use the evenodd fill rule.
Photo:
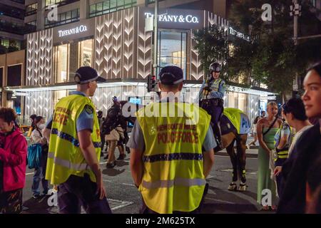
<svg viewBox="0 0 321 228">
<path fill-rule="evenodd" d="M 68 81 L 69 45 L 63 44 L 54 48 L 54 71 L 56 83 Z"/>
</svg>

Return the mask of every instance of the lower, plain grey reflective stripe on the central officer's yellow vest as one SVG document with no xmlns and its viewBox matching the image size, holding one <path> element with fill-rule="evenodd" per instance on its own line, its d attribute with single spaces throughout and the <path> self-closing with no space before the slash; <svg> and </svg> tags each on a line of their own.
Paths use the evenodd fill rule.
<svg viewBox="0 0 321 228">
<path fill-rule="evenodd" d="M 190 187 L 190 186 L 202 186 L 206 184 L 206 180 L 204 179 L 186 179 L 186 178 L 180 178 L 177 177 L 175 180 L 158 180 L 155 182 L 146 182 L 143 180 L 142 185 L 143 187 L 146 187 L 147 189 L 152 188 L 158 188 L 158 187 L 173 187 L 175 186 L 184 186 L 184 187 Z"/>
</svg>

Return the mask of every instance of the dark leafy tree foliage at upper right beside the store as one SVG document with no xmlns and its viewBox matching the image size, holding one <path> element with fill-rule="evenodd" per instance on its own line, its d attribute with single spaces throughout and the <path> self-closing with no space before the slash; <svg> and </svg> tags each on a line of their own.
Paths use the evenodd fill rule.
<svg viewBox="0 0 321 228">
<path fill-rule="evenodd" d="M 272 21 L 263 21 L 263 4 L 272 6 Z M 299 36 L 307 31 L 320 33 L 320 21 L 310 11 L 309 1 L 301 1 L 302 16 L 299 18 Z M 229 37 L 225 45 L 230 50 L 225 54 L 228 79 L 238 76 L 252 78 L 265 83 L 275 93 L 285 94 L 292 90 L 295 75 L 305 74 L 310 64 L 321 58 L 321 38 L 300 40 L 295 46 L 293 37 L 293 18 L 290 16 L 292 0 L 243 0 L 234 3 L 230 9 L 230 26 L 249 33 L 251 41 Z M 206 29 L 205 29 L 206 30 Z M 198 31 L 195 48 L 201 53 L 203 66 L 208 66 L 208 59 L 214 58 L 215 50 L 224 50 L 223 43 L 215 41 L 220 32 L 215 28 Z M 206 51 L 212 51 L 206 53 Z"/>
</svg>

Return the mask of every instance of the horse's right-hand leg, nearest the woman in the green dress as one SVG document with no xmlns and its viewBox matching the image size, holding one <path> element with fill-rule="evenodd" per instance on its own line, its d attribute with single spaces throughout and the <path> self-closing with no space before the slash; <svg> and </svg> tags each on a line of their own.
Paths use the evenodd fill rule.
<svg viewBox="0 0 321 228">
<path fill-rule="evenodd" d="M 245 191 L 246 190 L 246 171 L 245 171 L 245 163 L 246 163 L 246 140 L 248 139 L 248 135 L 238 135 L 238 139 L 236 140 L 237 145 L 237 160 L 238 160 L 238 171 L 240 173 L 240 187 L 238 190 Z"/>
</svg>

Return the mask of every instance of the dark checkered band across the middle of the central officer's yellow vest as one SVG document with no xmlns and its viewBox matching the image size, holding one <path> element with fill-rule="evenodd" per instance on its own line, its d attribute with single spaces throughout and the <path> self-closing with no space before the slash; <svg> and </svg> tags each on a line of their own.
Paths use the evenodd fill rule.
<svg viewBox="0 0 321 228">
<path fill-rule="evenodd" d="M 175 152 L 171 154 L 159 154 L 143 156 L 143 162 L 159 162 L 171 160 L 203 160 L 202 154 L 195 154 L 193 152 Z"/>
</svg>

